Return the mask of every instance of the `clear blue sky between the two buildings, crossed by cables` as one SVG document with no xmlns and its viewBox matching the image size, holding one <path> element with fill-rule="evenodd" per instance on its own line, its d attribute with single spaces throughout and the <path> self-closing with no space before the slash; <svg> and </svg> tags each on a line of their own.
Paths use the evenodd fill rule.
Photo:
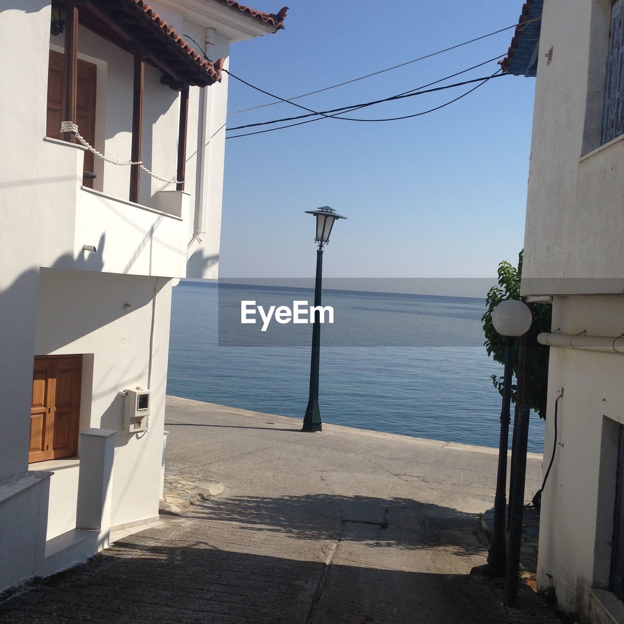
<svg viewBox="0 0 624 624">
<path fill-rule="evenodd" d="M 252 6 L 278 11 L 276 1 Z M 292 97 L 510 26 L 521 9 L 522 0 L 290 0 L 285 30 L 234 44 L 230 70 Z M 296 101 L 323 110 L 414 89 L 505 54 L 513 32 Z M 489 76 L 497 68 L 494 61 L 447 82 Z M 313 276 L 314 223 L 304 211 L 322 205 L 348 217 L 332 233 L 326 276 L 495 275 L 499 261 L 515 262 L 523 244 L 534 80 L 490 80 L 416 119 L 324 119 L 227 140 L 220 275 Z M 350 116 L 412 114 L 466 89 Z M 271 101 L 230 79 L 230 111 Z M 228 126 L 303 112 L 278 104 L 230 115 Z"/>
</svg>

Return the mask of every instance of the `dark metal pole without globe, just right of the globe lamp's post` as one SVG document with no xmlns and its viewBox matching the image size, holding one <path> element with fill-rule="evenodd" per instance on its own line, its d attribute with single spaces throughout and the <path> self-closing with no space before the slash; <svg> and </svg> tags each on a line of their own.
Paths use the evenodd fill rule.
<svg viewBox="0 0 624 624">
<path fill-rule="evenodd" d="M 520 406 L 516 441 L 516 465 L 511 489 L 514 498 L 510 502 L 509 555 L 505 578 L 505 603 L 515 607 L 518 600 L 518 574 L 520 571 L 520 545 L 522 542 L 522 517 L 524 514 L 524 480 L 527 473 L 527 444 L 529 441 L 529 406 Z"/>
</svg>

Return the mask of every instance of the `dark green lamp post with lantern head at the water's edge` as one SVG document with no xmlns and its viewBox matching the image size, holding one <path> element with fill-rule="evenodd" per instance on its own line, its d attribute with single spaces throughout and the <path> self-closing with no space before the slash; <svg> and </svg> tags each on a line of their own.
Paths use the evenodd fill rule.
<svg viewBox="0 0 624 624">
<path fill-rule="evenodd" d="M 314 319 L 312 322 L 312 356 L 310 359 L 310 398 L 303 417 L 303 431 L 321 431 L 323 421 L 318 406 L 318 371 L 321 354 L 321 280 L 323 278 L 323 246 L 329 242 L 329 234 L 337 219 L 346 219 L 333 208 L 322 206 L 316 210 L 306 210 L 306 215 L 316 217 L 316 281 L 314 283 Z"/>
</svg>

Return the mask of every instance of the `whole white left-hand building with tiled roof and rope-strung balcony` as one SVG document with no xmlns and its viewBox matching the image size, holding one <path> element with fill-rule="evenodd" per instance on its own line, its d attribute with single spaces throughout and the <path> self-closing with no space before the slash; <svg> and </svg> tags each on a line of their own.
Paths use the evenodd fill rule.
<svg viewBox="0 0 624 624">
<path fill-rule="evenodd" d="M 172 284 L 217 276 L 230 43 L 285 13 L 0 2 L 0 591 L 158 515 Z"/>
</svg>

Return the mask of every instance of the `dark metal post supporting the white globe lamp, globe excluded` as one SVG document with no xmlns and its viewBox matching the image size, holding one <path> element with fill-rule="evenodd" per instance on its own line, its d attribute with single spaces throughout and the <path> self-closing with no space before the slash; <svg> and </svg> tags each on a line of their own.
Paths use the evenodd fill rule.
<svg viewBox="0 0 624 624">
<path fill-rule="evenodd" d="M 514 364 L 514 339 L 506 338 L 505 376 L 503 384 L 503 404 L 500 411 L 499 470 L 496 477 L 494 496 L 494 527 L 492 545 L 487 555 L 488 571 L 494 574 L 505 573 L 507 552 L 505 547 L 505 507 L 507 505 L 507 446 L 509 446 L 509 421 L 511 405 L 511 378 Z"/>
</svg>

